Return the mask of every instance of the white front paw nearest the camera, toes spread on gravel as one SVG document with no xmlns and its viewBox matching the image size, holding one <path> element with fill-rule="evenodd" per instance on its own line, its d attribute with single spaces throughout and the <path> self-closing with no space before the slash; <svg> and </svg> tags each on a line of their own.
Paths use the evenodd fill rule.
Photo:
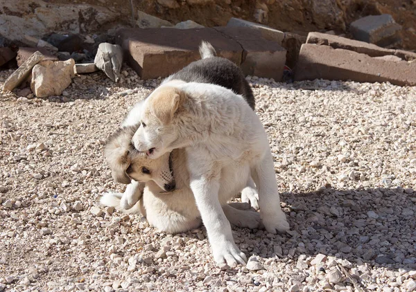
<svg viewBox="0 0 416 292">
<path fill-rule="evenodd" d="M 227 264 L 234 267 L 237 264 L 245 266 L 247 257 L 244 253 L 241 253 L 239 248 L 232 241 L 225 241 L 222 244 L 212 245 L 214 259 L 217 264 Z"/>
</svg>

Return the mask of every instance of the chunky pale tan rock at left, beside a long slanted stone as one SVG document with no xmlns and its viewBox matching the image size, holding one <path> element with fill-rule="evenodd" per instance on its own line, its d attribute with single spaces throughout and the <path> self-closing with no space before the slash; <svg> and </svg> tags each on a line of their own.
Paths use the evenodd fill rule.
<svg viewBox="0 0 416 292">
<path fill-rule="evenodd" d="M 47 98 L 51 95 L 61 95 L 74 76 L 73 59 L 67 61 L 44 61 L 42 65 L 33 67 L 31 89 L 38 98 Z"/>
</svg>

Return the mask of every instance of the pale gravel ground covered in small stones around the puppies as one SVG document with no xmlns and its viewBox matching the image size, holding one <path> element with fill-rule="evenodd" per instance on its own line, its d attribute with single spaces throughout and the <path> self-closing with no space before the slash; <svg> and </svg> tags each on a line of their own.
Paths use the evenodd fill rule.
<svg viewBox="0 0 416 292">
<path fill-rule="evenodd" d="M 291 231 L 233 228 L 250 256 L 233 270 L 203 228 L 167 235 L 97 203 L 123 188 L 107 135 L 159 82 L 123 74 L 1 95 L 0 291 L 416 290 L 416 87 L 250 78 Z"/>
</svg>

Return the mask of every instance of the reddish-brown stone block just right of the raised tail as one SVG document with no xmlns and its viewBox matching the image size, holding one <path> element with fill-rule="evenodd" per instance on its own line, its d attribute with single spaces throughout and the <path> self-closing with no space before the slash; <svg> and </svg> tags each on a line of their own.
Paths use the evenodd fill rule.
<svg viewBox="0 0 416 292">
<path fill-rule="evenodd" d="M 286 63 L 286 50 L 277 42 L 262 37 L 259 30 L 248 27 L 216 27 L 243 48 L 241 69 L 245 75 L 273 78 L 280 81 Z"/>
</svg>

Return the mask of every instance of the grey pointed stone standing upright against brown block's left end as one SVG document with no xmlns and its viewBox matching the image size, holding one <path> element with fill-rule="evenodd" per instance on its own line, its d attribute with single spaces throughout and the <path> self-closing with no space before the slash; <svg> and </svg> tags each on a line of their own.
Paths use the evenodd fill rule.
<svg viewBox="0 0 416 292">
<path fill-rule="evenodd" d="M 118 44 L 101 43 L 98 46 L 94 64 L 112 81 L 118 82 L 121 66 L 123 66 L 123 49 Z"/>
</svg>

